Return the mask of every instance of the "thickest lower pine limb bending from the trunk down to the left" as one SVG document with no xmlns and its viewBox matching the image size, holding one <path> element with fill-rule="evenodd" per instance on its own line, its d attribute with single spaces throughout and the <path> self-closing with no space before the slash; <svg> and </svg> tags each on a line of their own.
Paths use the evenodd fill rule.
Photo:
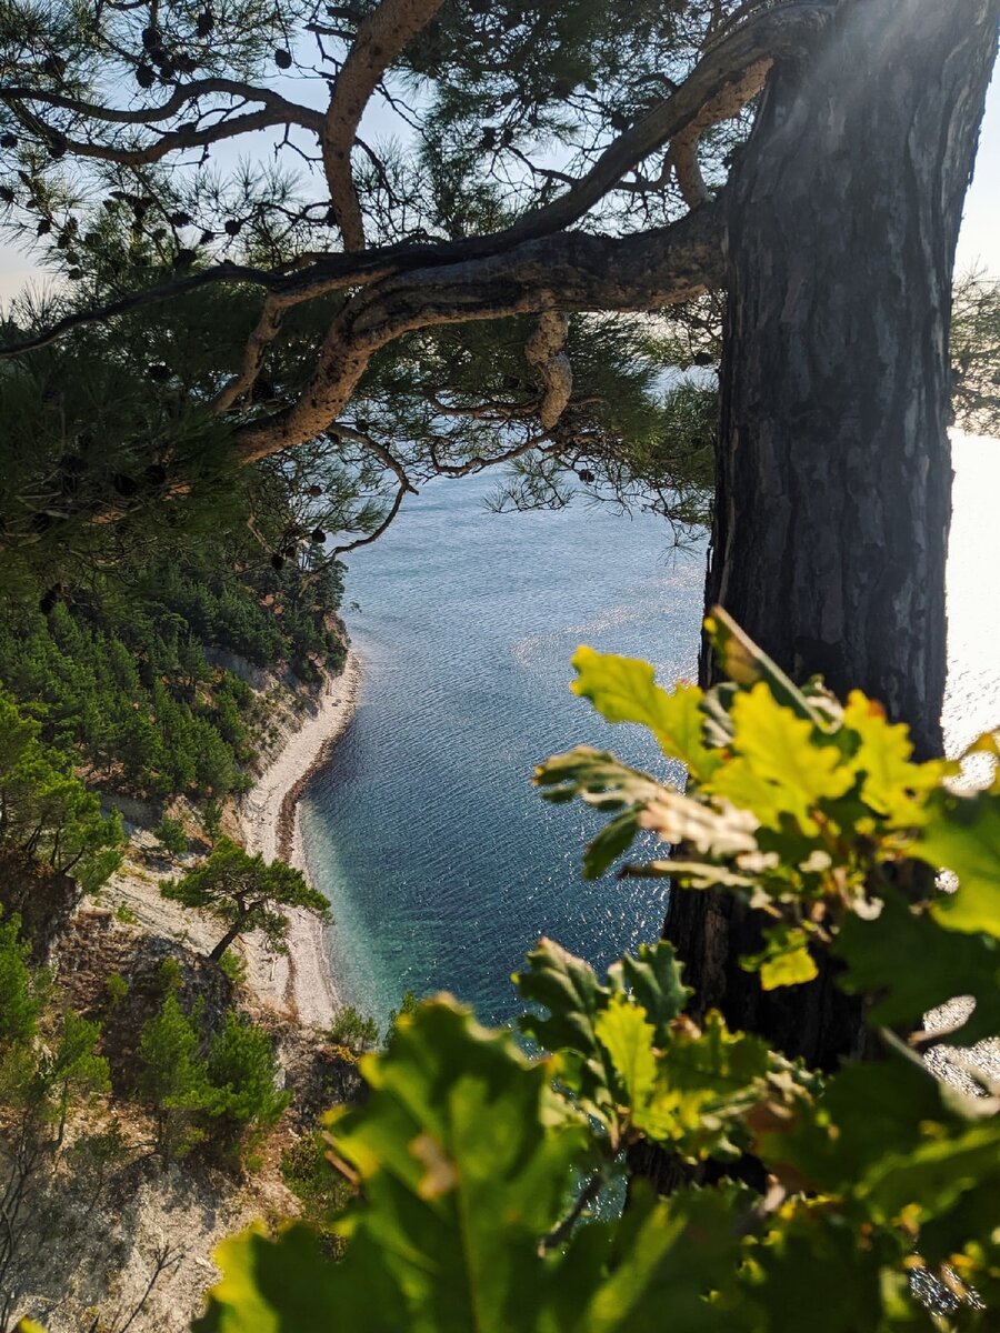
<svg viewBox="0 0 1000 1333">
<path fill-rule="evenodd" d="M 365 288 L 333 321 L 316 373 L 291 408 L 236 433 L 251 463 L 323 433 L 372 356 L 405 333 L 543 311 L 644 311 L 723 279 L 723 212 L 707 204 L 672 227 L 609 240 L 572 232 L 507 255 L 427 268 Z"/>
</svg>

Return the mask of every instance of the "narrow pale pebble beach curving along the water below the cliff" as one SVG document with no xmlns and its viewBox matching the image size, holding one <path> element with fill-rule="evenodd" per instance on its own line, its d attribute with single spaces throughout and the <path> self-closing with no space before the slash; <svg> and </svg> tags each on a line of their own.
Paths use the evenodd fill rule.
<svg viewBox="0 0 1000 1333">
<path fill-rule="evenodd" d="M 353 716 L 360 677 L 361 664 L 351 649 L 343 672 L 327 681 L 316 712 L 288 734 L 240 806 L 247 850 L 261 853 L 265 861 L 288 861 L 307 880 L 299 801 Z M 288 918 L 288 954 L 255 949 L 249 960 L 252 984 L 291 1009 L 300 1022 L 328 1026 L 340 1008 L 340 996 L 325 949 L 327 928 L 304 910 L 292 910 Z"/>
</svg>

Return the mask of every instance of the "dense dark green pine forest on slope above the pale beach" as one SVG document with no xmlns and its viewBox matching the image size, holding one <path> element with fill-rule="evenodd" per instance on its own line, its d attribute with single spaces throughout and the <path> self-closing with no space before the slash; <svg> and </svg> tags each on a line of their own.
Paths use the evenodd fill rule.
<svg viewBox="0 0 1000 1333">
<path fill-rule="evenodd" d="M 303 682 L 336 670 L 336 569 L 304 585 L 288 572 L 160 560 L 75 589 L 41 609 L 9 608 L 0 680 L 92 785 L 160 800 L 220 800 L 245 788 L 255 696 L 205 649 L 287 669 Z"/>
</svg>

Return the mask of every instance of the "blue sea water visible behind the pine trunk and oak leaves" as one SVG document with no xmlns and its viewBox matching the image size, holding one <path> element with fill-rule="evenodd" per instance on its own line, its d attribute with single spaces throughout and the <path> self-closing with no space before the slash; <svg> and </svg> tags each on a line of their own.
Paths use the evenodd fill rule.
<svg viewBox="0 0 1000 1333">
<path fill-rule="evenodd" d="M 1000 725 L 1000 440 L 957 436 L 948 567 L 949 748 Z M 301 804 L 313 882 L 333 909 L 344 1004 L 385 1021 L 407 990 L 448 990 L 483 1021 L 517 1012 L 511 973 L 541 936 L 599 970 L 653 941 L 664 881 L 587 882 L 579 802 L 535 766 L 573 745 L 683 781 L 641 728 L 569 690 L 579 644 L 696 672 L 707 539 L 683 548 L 652 515 L 608 505 L 492 513 L 488 475 L 409 496 L 348 560 L 357 710 Z"/>
</svg>

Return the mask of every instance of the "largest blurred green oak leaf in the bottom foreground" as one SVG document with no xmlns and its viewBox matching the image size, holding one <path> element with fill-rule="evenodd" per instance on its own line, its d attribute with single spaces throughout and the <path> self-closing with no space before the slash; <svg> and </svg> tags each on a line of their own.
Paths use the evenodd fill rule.
<svg viewBox="0 0 1000 1333">
<path fill-rule="evenodd" d="M 321 1260 L 296 1228 L 231 1242 L 199 1333 L 509 1333 L 544 1304 L 540 1244 L 592 1160 L 552 1061 L 439 997 L 399 1018 L 363 1072 L 367 1105 L 331 1132 L 360 1185 L 344 1257 Z"/>
</svg>

